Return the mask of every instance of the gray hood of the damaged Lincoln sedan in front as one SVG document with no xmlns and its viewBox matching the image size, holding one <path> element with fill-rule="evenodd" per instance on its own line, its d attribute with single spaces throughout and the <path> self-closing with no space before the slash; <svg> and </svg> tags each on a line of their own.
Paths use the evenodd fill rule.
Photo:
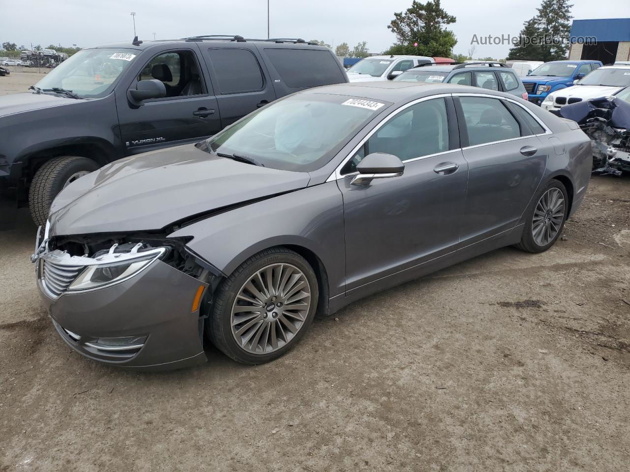
<svg viewBox="0 0 630 472">
<path fill-rule="evenodd" d="M 157 230 L 189 216 L 307 186 L 278 171 L 208 154 L 195 145 L 120 159 L 77 179 L 50 208 L 50 235 Z"/>
</svg>

